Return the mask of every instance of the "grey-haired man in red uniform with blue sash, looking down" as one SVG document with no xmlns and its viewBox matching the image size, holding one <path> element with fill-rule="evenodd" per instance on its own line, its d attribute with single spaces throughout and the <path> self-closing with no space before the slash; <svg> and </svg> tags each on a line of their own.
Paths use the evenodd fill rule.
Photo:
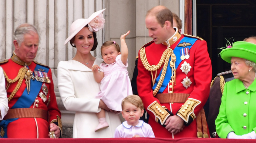
<svg viewBox="0 0 256 143">
<path fill-rule="evenodd" d="M 1 62 L 6 79 L 9 111 L 0 122 L 4 138 L 58 138 L 58 109 L 51 69 L 34 60 L 39 44 L 36 28 L 21 24 L 14 32 L 14 52 Z"/>
</svg>

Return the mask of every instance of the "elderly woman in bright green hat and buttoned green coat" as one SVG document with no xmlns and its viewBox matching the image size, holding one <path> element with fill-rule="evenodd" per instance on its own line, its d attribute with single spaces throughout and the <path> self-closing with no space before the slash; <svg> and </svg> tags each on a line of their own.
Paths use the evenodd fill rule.
<svg viewBox="0 0 256 143">
<path fill-rule="evenodd" d="M 256 139 L 256 44 L 234 42 L 221 57 L 231 63 L 235 79 L 225 83 L 216 132 L 221 138 Z"/>
</svg>

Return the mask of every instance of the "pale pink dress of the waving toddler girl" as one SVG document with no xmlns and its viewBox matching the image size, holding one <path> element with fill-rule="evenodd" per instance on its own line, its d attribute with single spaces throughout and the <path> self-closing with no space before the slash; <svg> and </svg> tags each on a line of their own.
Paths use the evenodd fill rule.
<svg viewBox="0 0 256 143">
<path fill-rule="evenodd" d="M 122 100 L 133 94 L 127 66 L 128 63 L 124 65 L 121 61 L 121 55 L 118 55 L 116 62 L 112 64 L 100 64 L 100 71 L 104 72 L 104 78 L 100 82 L 100 92 L 96 98 L 100 98 L 115 111 L 122 111 Z"/>
</svg>

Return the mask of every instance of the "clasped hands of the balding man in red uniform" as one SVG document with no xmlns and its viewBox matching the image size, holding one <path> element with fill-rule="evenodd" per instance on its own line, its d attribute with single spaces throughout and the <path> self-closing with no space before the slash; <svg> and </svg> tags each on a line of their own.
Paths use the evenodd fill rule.
<svg viewBox="0 0 256 143">
<path fill-rule="evenodd" d="M 173 135 L 180 133 L 183 130 L 183 128 L 185 127 L 184 120 L 182 120 L 177 115 L 168 117 L 166 119 L 164 125 L 166 125 L 165 129 L 167 129 Z"/>
</svg>

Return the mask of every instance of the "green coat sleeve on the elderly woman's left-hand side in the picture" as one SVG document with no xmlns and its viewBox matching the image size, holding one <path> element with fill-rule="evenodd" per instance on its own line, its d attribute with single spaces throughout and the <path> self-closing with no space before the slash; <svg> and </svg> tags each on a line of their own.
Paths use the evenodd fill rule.
<svg viewBox="0 0 256 143">
<path fill-rule="evenodd" d="M 229 125 L 226 115 L 226 95 L 227 95 L 227 86 L 228 82 L 226 82 L 224 86 L 224 92 L 221 98 L 220 112 L 215 120 L 216 132 L 220 138 L 227 138 L 227 134 L 232 132 L 233 129 Z"/>
</svg>

